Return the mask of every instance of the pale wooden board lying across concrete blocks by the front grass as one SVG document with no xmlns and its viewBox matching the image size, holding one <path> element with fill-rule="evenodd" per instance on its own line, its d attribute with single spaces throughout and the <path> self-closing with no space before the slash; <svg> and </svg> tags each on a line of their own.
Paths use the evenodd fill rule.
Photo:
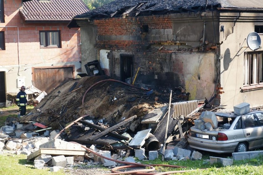
<svg viewBox="0 0 263 175">
<path fill-rule="evenodd" d="M 41 154 L 50 155 L 67 155 L 67 156 L 85 156 L 86 151 L 83 150 L 66 150 L 66 149 L 55 149 L 55 148 L 39 148 L 39 150 L 31 153 L 27 156 L 27 160 L 34 159 Z"/>
</svg>

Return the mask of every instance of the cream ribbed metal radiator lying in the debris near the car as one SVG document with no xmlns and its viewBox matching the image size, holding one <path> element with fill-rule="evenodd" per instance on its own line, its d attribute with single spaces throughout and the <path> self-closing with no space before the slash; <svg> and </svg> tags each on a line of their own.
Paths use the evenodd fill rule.
<svg viewBox="0 0 263 175">
<path fill-rule="evenodd" d="M 194 109 L 198 108 L 198 100 L 182 101 L 171 104 L 171 109 L 174 109 L 173 118 L 187 116 Z"/>
</svg>

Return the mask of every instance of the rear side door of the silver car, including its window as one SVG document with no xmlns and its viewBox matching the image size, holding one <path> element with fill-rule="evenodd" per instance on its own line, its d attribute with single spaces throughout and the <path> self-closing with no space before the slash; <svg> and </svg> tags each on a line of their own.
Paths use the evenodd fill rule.
<svg viewBox="0 0 263 175">
<path fill-rule="evenodd" d="M 262 128 L 257 116 L 250 113 L 242 116 L 244 136 L 249 142 L 249 149 L 260 147 L 262 143 Z"/>
</svg>

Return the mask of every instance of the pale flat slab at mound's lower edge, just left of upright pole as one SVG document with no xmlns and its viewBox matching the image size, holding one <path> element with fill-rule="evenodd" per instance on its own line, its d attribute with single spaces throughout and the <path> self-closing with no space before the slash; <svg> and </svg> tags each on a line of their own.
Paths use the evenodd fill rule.
<svg viewBox="0 0 263 175">
<path fill-rule="evenodd" d="M 165 115 L 165 112 L 167 111 L 168 106 L 164 106 L 161 108 L 153 109 L 152 111 L 148 112 L 146 114 L 141 123 L 158 123 L 161 117 Z"/>
</svg>

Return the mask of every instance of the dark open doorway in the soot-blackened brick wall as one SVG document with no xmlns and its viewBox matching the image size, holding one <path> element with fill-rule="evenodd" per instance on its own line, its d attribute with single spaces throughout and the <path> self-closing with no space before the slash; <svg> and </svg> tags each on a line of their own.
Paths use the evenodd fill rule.
<svg viewBox="0 0 263 175">
<path fill-rule="evenodd" d="M 125 82 L 125 79 L 131 78 L 133 72 L 133 55 L 120 55 L 120 78 Z"/>
</svg>

